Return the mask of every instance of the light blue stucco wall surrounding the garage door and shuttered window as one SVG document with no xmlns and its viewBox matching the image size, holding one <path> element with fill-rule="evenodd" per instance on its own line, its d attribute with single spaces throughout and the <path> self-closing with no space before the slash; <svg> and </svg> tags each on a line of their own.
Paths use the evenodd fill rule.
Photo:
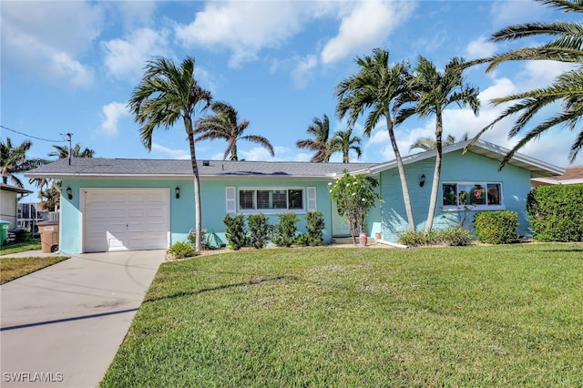
<svg viewBox="0 0 583 388">
<path fill-rule="evenodd" d="M 317 209 L 322 211 L 325 229 L 324 240 L 332 240 L 332 205 L 327 184 L 330 180 L 306 179 L 200 179 L 202 228 L 219 234 L 223 242 L 223 219 L 226 213 L 226 188 L 304 189 L 304 207 L 307 207 L 306 188 L 316 188 Z M 180 188 L 176 199 L 174 189 Z M 60 249 L 67 254 L 80 253 L 82 247 L 80 189 L 92 188 L 167 188 L 170 190 L 170 244 L 187 239 L 190 229 L 195 227 L 194 186 L 192 179 L 63 179 L 63 188 L 70 187 L 73 199 L 66 194 L 61 200 Z M 277 214 L 266 214 L 272 224 L 277 223 Z M 305 211 L 298 212 L 301 221 L 298 230 L 306 230 Z"/>
</svg>

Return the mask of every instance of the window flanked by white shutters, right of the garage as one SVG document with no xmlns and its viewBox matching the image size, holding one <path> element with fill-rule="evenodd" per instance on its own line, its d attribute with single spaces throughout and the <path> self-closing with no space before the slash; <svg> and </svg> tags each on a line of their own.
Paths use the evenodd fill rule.
<svg viewBox="0 0 583 388">
<path fill-rule="evenodd" d="M 239 189 L 239 210 L 303 210 L 304 189 Z"/>
</svg>

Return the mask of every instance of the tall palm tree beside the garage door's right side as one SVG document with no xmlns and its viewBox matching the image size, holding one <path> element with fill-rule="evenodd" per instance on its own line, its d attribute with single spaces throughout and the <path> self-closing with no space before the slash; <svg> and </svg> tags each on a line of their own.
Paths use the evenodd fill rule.
<svg viewBox="0 0 583 388">
<path fill-rule="evenodd" d="M 212 96 L 209 91 L 199 86 L 194 77 L 194 58 L 188 56 L 179 67 L 172 61 L 158 56 L 148 61 L 144 77 L 129 99 L 128 107 L 141 126 L 139 136 L 149 150 L 152 149 L 154 129 L 163 127 L 168 130 L 179 119 L 189 139 L 190 161 L 194 176 L 194 209 L 196 225 L 196 250 L 202 249 L 200 230 L 200 180 L 197 165 L 193 120 L 200 110 L 210 106 Z"/>
</svg>

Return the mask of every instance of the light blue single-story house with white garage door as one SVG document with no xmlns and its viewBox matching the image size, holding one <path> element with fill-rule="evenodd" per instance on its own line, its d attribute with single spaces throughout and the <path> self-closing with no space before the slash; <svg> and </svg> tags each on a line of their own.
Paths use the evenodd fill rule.
<svg viewBox="0 0 583 388">
<path fill-rule="evenodd" d="M 435 228 L 456 225 L 470 213 L 491 209 L 517 211 L 518 232 L 529 235 L 526 200 L 530 179 L 564 173 L 534 158 L 517 154 L 498 171 L 507 149 L 484 141 L 467 153 L 467 142 L 444 148 L 439 209 Z M 404 158 L 417 229 L 429 207 L 435 150 Z M 348 168 L 353 174 L 379 179 L 382 200 L 371 209 L 369 235 L 395 242 L 406 230 L 396 163 L 309 163 L 199 161 L 202 227 L 224 241 L 226 214 L 263 213 L 271 223 L 293 211 L 305 230 L 305 213 L 322 211 L 324 240 L 346 236 L 348 228 L 330 199 L 328 183 Z M 30 178 L 62 179 L 61 250 L 68 254 L 104 250 L 166 249 L 186 240 L 194 227 L 194 189 L 189 160 L 60 159 L 26 173 Z M 421 178 L 425 183 L 420 185 Z M 70 194 L 69 194 L 70 193 Z M 471 222 L 467 221 L 467 227 Z M 225 241 L 226 242 L 226 241 Z"/>
</svg>

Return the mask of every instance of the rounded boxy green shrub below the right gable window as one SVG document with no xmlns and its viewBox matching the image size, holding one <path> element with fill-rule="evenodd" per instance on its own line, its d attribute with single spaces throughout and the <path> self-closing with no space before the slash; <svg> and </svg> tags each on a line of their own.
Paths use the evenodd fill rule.
<svg viewBox="0 0 583 388">
<path fill-rule="evenodd" d="M 518 214 L 510 210 L 482 211 L 474 218 L 476 239 L 489 244 L 517 242 Z"/>
</svg>

